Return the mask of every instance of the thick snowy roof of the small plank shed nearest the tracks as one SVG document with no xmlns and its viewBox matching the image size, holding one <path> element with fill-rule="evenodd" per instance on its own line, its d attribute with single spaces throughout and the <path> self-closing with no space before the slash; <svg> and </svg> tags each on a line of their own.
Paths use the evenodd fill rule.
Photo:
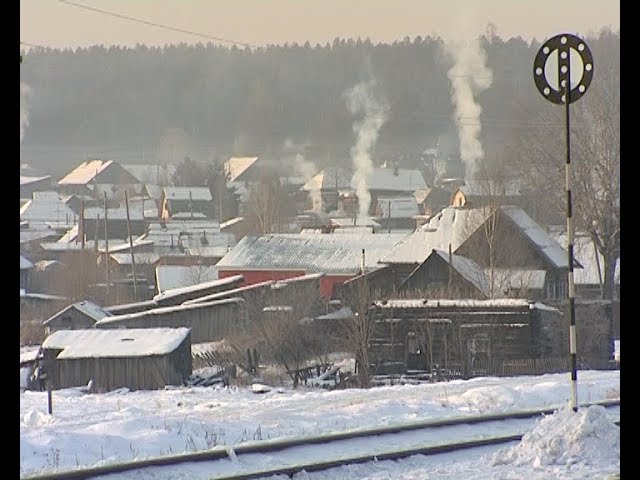
<svg viewBox="0 0 640 480">
<path fill-rule="evenodd" d="M 189 328 L 58 330 L 42 347 L 62 350 L 59 360 L 164 355 L 180 346 L 189 332 Z"/>
</svg>

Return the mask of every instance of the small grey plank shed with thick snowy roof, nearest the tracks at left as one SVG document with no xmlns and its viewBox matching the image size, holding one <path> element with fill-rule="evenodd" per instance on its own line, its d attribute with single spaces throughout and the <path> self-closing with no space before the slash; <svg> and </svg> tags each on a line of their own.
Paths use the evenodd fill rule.
<svg viewBox="0 0 640 480">
<path fill-rule="evenodd" d="M 59 330 L 42 343 L 53 389 L 158 390 L 192 373 L 188 328 Z"/>
</svg>

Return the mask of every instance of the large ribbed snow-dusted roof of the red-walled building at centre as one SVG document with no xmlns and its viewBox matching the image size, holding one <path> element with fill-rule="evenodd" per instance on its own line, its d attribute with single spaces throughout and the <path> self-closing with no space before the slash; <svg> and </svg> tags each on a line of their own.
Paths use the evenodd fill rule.
<svg viewBox="0 0 640 480">
<path fill-rule="evenodd" d="M 303 270 L 352 275 L 381 267 L 378 259 L 405 238 L 398 234 L 268 234 L 244 237 L 216 265 L 219 270 Z"/>
</svg>

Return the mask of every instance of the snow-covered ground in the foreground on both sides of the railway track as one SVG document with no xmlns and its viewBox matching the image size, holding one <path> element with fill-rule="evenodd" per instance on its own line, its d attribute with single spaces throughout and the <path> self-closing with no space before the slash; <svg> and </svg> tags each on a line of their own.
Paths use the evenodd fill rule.
<svg viewBox="0 0 640 480">
<path fill-rule="evenodd" d="M 580 403 L 619 397 L 619 370 L 578 372 Z M 367 464 L 302 472 L 295 478 L 617 478 L 620 431 L 612 415 L 599 406 L 573 412 L 567 408 L 570 398 L 568 373 L 369 390 L 273 388 L 263 394 L 234 386 L 120 389 L 106 394 L 68 389 L 53 392 L 53 415 L 47 413 L 46 392 L 27 391 L 20 394 L 20 468 L 26 476 L 215 446 L 231 448 L 243 442 L 558 407 L 554 415 L 541 417 L 520 442 L 509 446 L 433 457 L 417 455 L 402 461 L 381 461 L 375 467 Z M 127 478 L 123 475 L 118 478 Z M 129 475 L 139 478 L 135 473 Z M 199 477 L 194 474 L 189 478 Z"/>
</svg>

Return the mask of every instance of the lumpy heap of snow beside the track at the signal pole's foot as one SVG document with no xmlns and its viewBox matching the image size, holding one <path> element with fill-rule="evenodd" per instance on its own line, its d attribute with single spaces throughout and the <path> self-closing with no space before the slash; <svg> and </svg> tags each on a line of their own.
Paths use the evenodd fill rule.
<svg viewBox="0 0 640 480">
<path fill-rule="evenodd" d="M 497 451 L 492 465 L 619 465 L 620 427 L 601 405 L 547 415 L 518 445 Z"/>
</svg>

